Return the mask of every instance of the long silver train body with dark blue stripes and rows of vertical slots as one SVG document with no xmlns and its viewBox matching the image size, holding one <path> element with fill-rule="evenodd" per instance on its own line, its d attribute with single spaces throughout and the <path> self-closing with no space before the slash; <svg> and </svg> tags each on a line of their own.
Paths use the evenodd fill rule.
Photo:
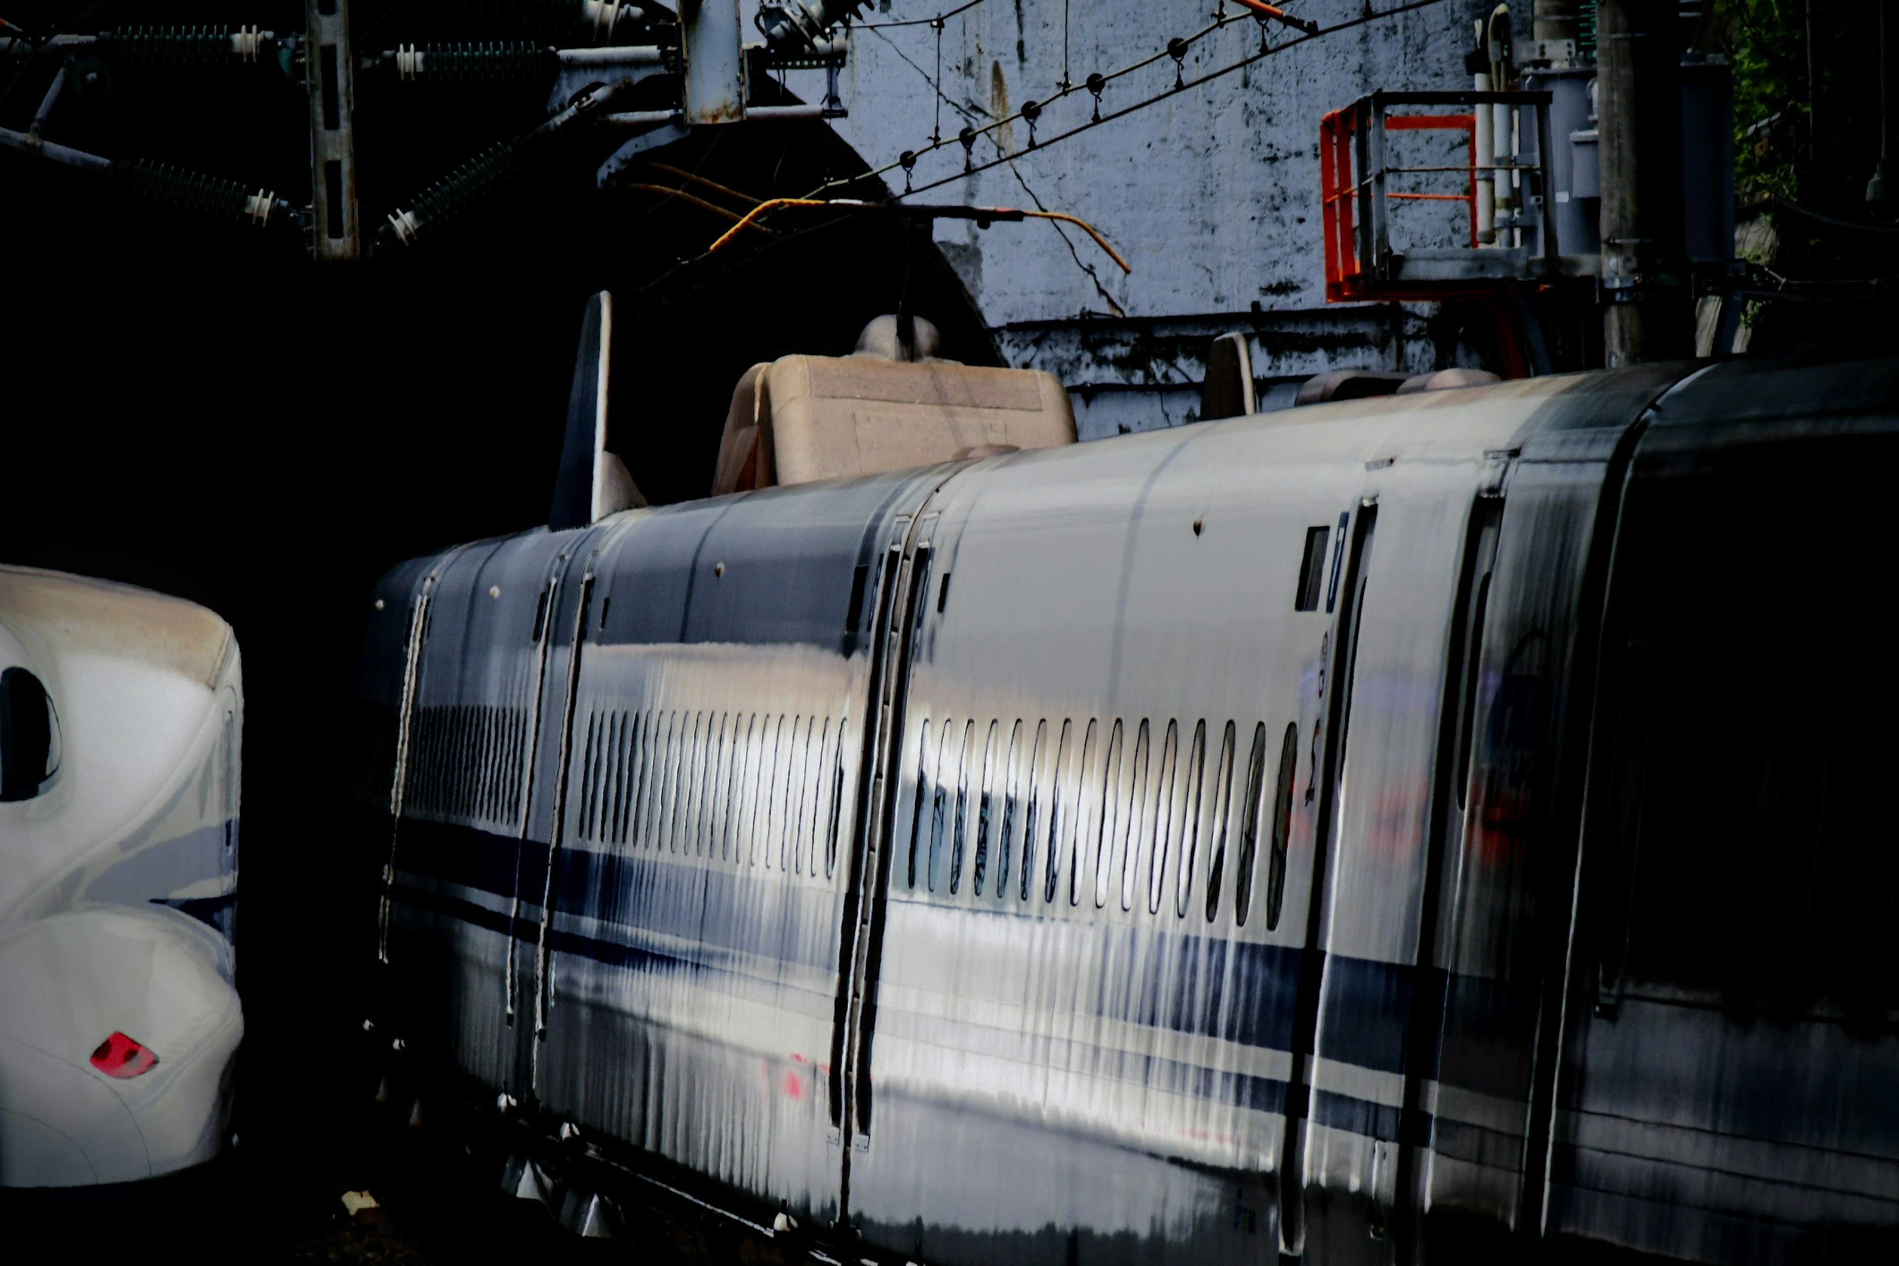
<svg viewBox="0 0 1899 1266">
<path fill-rule="evenodd" d="M 1639 366 L 418 558 L 368 1023 L 839 1260 L 1891 1258 L 1895 459 Z"/>
</svg>

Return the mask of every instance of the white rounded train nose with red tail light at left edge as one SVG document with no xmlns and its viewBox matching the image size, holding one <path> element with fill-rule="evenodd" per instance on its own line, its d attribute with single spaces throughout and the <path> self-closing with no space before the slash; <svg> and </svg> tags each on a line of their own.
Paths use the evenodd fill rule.
<svg viewBox="0 0 1899 1266">
<path fill-rule="evenodd" d="M 0 566 L 0 1186 L 222 1148 L 241 725 L 211 611 Z"/>
</svg>

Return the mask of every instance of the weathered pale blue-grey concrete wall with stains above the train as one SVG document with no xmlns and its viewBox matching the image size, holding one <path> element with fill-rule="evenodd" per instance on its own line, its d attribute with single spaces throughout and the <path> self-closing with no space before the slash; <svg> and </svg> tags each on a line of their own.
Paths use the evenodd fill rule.
<svg viewBox="0 0 1899 1266">
<path fill-rule="evenodd" d="M 1331 25 L 1384 9 L 1396 0 L 1288 0 L 1301 17 Z M 1079 389 L 1077 419 L 1086 437 L 1189 421 L 1191 385 L 1204 370 L 1212 334 L 1248 328 L 1263 395 L 1274 380 L 1339 366 L 1426 370 L 1445 359 L 1422 338 L 1426 309 L 1327 307 L 1320 247 L 1318 121 L 1375 87 L 1464 87 L 1472 23 L 1485 0 L 1439 4 L 1303 42 L 1225 78 L 1170 97 L 1056 144 L 1027 150 L 1018 120 L 978 139 L 976 161 L 1018 152 L 986 173 L 963 171 L 957 131 L 1014 112 L 1025 99 L 1048 101 L 1063 76 L 1082 84 L 1206 27 L 1219 0 L 984 0 L 948 17 L 942 84 L 936 93 L 936 32 L 929 19 L 953 2 L 879 0 L 851 34 L 837 131 L 872 165 L 929 144 L 940 106 L 948 144 L 917 159 L 919 201 L 1018 205 L 1069 211 L 1094 222 L 1134 264 L 1122 275 L 1079 230 L 1050 222 L 978 230 L 944 220 L 936 241 L 1003 353 L 1016 364 L 1048 368 Z M 1227 4 L 1238 11 L 1236 4 Z M 1529 30 L 1529 0 L 1514 4 Z M 1272 25 L 1270 44 L 1293 32 Z M 1234 23 L 1196 42 L 1181 70 L 1196 74 L 1257 51 L 1261 28 Z M 792 89 L 817 99 L 820 76 Z M 1105 112 L 1164 91 L 1175 65 L 1155 65 L 1113 82 Z M 1046 142 L 1090 118 L 1094 101 L 1077 91 L 1048 104 L 1035 127 Z M 887 177 L 904 190 L 902 171 Z M 1424 203 L 1445 218 L 1449 203 Z M 1455 218 L 1455 216 L 1453 216 Z M 1451 218 L 1445 218 L 1449 224 Z M 1441 243 L 1451 245 L 1451 243 Z M 1096 317 L 1136 317 L 1134 325 Z M 1151 323 L 1151 325 L 1147 325 Z M 1455 355 L 1455 353 L 1451 353 Z M 1460 357 L 1458 357 L 1460 359 Z"/>
</svg>

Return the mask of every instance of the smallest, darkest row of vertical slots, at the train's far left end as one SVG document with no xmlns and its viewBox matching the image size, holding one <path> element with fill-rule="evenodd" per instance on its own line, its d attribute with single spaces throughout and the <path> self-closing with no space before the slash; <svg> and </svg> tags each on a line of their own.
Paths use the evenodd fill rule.
<svg viewBox="0 0 1899 1266">
<path fill-rule="evenodd" d="M 513 822 L 520 814 L 526 744 L 526 708 L 416 708 L 408 736 L 404 812 Z"/>
</svg>

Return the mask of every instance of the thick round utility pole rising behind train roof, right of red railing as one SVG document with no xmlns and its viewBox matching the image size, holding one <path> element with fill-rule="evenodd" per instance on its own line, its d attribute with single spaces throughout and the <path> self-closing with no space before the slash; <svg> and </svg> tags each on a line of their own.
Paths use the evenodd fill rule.
<svg viewBox="0 0 1899 1266">
<path fill-rule="evenodd" d="M 1608 368 L 1694 355 L 1683 258 L 1681 47 L 1675 0 L 1601 0 L 1595 112 L 1603 169 Z"/>
</svg>

